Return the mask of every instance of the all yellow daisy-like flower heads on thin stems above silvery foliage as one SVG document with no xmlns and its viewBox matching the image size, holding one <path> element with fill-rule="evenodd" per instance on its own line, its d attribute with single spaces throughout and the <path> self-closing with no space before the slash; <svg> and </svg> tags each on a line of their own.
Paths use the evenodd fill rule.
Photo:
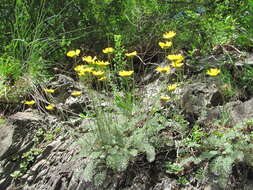
<svg viewBox="0 0 253 190">
<path fill-rule="evenodd" d="M 172 38 L 174 38 L 176 36 L 176 32 L 174 31 L 169 31 L 163 34 L 163 38 L 166 39 L 167 41 L 165 42 L 159 42 L 159 46 L 162 49 L 166 49 L 172 46 Z M 102 50 L 102 52 L 104 54 L 111 54 L 114 52 L 114 49 L 112 47 L 107 47 L 105 49 Z M 67 56 L 71 57 L 71 58 L 75 58 L 78 57 L 80 55 L 81 51 L 79 49 L 76 50 L 71 50 L 67 52 Z M 125 53 L 125 56 L 127 57 L 133 57 L 133 56 L 137 56 L 137 52 L 133 51 L 133 52 L 128 52 Z M 164 67 L 160 67 L 158 66 L 155 70 L 157 72 L 160 73 L 170 73 L 171 68 L 180 68 L 184 65 L 183 61 L 184 61 L 184 57 L 181 54 L 171 54 L 171 55 L 167 55 L 166 58 L 171 61 L 170 65 L 164 66 Z M 80 64 L 77 65 L 74 70 L 76 71 L 76 73 L 79 76 L 85 76 L 85 75 L 92 75 L 95 76 L 97 78 L 98 81 L 104 81 L 107 79 L 106 73 L 107 73 L 107 67 L 108 65 L 110 65 L 109 61 L 102 61 L 102 60 L 98 60 L 97 57 L 92 57 L 92 56 L 84 56 L 82 57 L 82 61 L 85 62 L 84 64 Z M 208 69 L 206 74 L 209 76 L 217 76 L 220 73 L 220 69 L 218 68 L 211 68 Z M 122 70 L 118 72 L 118 75 L 121 77 L 129 77 L 131 75 L 133 75 L 134 71 L 133 70 Z M 179 86 L 178 83 L 175 84 L 170 84 L 167 86 L 167 90 L 169 92 L 174 91 L 177 87 Z M 54 89 L 43 89 L 43 91 L 45 93 L 49 93 L 49 94 L 53 94 L 55 93 Z M 82 94 L 82 91 L 73 91 L 71 92 L 72 96 L 80 96 Z M 161 96 L 160 100 L 163 102 L 167 102 L 169 100 L 171 100 L 171 97 L 169 96 Z M 24 101 L 25 105 L 29 105 L 32 106 L 34 105 L 36 102 L 34 100 L 28 100 L 28 101 Z M 45 109 L 47 110 L 54 110 L 55 109 L 55 105 L 49 103 L 47 106 L 45 106 Z"/>
</svg>

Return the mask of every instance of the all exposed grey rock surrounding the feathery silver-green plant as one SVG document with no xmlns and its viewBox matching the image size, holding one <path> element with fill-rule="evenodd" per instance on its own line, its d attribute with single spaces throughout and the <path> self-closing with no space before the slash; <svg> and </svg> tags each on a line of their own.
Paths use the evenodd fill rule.
<svg viewBox="0 0 253 190">
<path fill-rule="evenodd" d="M 143 104 L 147 105 L 145 109 L 149 109 L 149 106 L 154 103 L 150 99 L 156 98 L 158 100 L 156 102 L 159 102 L 159 96 L 164 90 L 159 85 L 160 82 L 155 80 L 145 86 L 143 94 Z M 66 87 L 65 83 L 70 87 Z M 49 87 L 56 89 L 57 93 L 53 95 L 53 98 L 57 99 L 56 103 L 59 107 L 65 106 L 75 114 L 82 113 L 91 104 L 86 90 L 78 86 L 71 78 L 59 76 Z M 64 88 L 67 89 L 64 90 Z M 70 95 L 72 90 L 81 90 L 83 94 L 73 97 Z M 177 107 L 182 110 L 189 121 L 197 122 L 201 126 L 208 126 L 209 123 L 221 119 L 224 113 L 228 113 L 226 116 L 232 125 L 253 117 L 253 99 L 246 102 L 225 103 L 215 81 L 182 84 L 171 95 L 177 98 L 162 105 L 161 109 L 166 109 L 166 106 Z M 111 108 L 112 102 L 108 102 L 104 98 L 104 103 L 100 105 L 101 108 Z M 113 112 L 111 113 L 113 114 Z M 173 176 L 163 173 L 161 168 L 164 167 L 164 163 L 158 163 L 159 159 L 148 166 L 138 168 L 138 170 L 132 163 L 133 165 L 129 166 L 125 172 L 108 174 L 107 179 L 100 186 L 87 181 L 83 175 L 83 169 L 88 160 L 84 157 L 76 157 L 80 151 L 79 145 L 76 143 L 76 133 L 85 133 L 85 126 L 88 122 L 88 119 L 81 120 L 70 117 L 63 121 L 61 117 L 57 117 L 57 114 L 54 115 L 54 112 L 41 114 L 31 109 L 11 115 L 8 121 L 0 126 L 1 190 L 196 189 L 191 184 L 183 187 Z M 42 149 L 42 152 L 34 162 L 30 163 L 24 175 L 18 180 L 14 180 L 10 174 L 19 169 L 20 160 L 13 159 L 13 156 L 20 156 L 29 151 L 34 145 L 33 138 L 38 129 L 42 128 L 47 131 L 48 128 L 54 129 L 56 127 L 60 127 L 63 132 L 50 141 L 40 142 L 38 147 Z M 191 177 L 189 179 L 194 180 Z M 203 189 L 215 188 L 207 184 Z"/>
</svg>

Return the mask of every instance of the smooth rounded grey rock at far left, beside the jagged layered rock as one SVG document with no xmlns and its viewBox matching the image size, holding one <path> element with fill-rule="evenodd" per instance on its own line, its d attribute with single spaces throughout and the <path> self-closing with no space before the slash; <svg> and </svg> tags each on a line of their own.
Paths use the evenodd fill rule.
<svg viewBox="0 0 253 190">
<path fill-rule="evenodd" d="M 27 110 L 9 117 L 8 122 L 1 125 L 0 135 L 0 187 L 5 188 L 11 182 L 10 174 L 18 168 L 13 162 L 14 155 L 22 155 L 33 145 L 36 129 L 43 125 L 43 119 L 37 111 Z"/>
</svg>

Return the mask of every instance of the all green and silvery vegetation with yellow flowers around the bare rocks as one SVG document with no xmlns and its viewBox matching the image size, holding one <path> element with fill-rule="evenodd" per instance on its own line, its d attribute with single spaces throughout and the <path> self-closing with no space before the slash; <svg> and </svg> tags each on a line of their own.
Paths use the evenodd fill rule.
<svg viewBox="0 0 253 190">
<path fill-rule="evenodd" d="M 108 172 L 126 171 L 138 158 L 154 163 L 165 150 L 175 155 L 165 156 L 162 170 L 178 184 L 190 184 L 191 174 L 204 183 L 213 174 L 226 188 L 235 166 L 252 167 L 252 120 L 232 126 L 224 110 L 220 120 L 196 124 L 180 110 L 180 90 L 197 78 L 215 84 L 225 103 L 252 97 L 252 65 L 236 64 L 253 48 L 252 13 L 252 0 L 2 0 L 0 104 L 54 114 L 57 89 L 40 84 L 68 75 L 92 97 L 79 113 L 85 132 L 77 135 L 86 180 L 100 185 Z M 224 59 L 202 65 L 210 54 Z M 149 74 L 160 89 L 143 97 Z M 108 106 L 100 106 L 102 95 Z M 24 175 L 43 151 L 38 145 L 60 130 L 38 130 L 11 176 Z"/>
</svg>

